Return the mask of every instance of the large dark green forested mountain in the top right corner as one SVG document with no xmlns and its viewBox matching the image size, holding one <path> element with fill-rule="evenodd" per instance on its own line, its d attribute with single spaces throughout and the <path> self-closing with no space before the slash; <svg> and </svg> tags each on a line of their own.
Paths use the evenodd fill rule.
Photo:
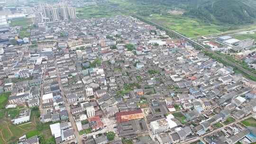
<svg viewBox="0 0 256 144">
<path fill-rule="evenodd" d="M 253 23 L 256 18 L 256 8 L 242 2 L 243 0 L 191 0 L 193 1 L 197 2 L 197 7 L 191 7 L 184 15 L 228 24 Z"/>
</svg>

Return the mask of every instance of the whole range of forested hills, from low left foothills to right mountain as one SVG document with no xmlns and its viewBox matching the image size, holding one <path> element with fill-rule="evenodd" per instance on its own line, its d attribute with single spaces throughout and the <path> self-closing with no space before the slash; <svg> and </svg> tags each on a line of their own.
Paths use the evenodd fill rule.
<svg viewBox="0 0 256 144">
<path fill-rule="evenodd" d="M 145 9 L 138 14 L 164 13 L 166 9 L 184 9 L 185 16 L 216 24 L 248 24 L 256 20 L 256 0 L 128 0 Z M 254 2 L 252 2 L 254 1 Z M 150 9 L 152 8 L 152 9 Z"/>
</svg>

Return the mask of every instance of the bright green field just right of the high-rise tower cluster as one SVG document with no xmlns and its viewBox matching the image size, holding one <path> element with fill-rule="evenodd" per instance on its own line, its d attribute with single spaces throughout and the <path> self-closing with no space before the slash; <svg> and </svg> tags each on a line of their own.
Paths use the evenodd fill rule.
<svg viewBox="0 0 256 144">
<path fill-rule="evenodd" d="M 119 11 L 106 5 L 85 6 L 83 8 L 76 8 L 79 18 L 110 18 L 117 15 L 124 15 Z"/>
</svg>

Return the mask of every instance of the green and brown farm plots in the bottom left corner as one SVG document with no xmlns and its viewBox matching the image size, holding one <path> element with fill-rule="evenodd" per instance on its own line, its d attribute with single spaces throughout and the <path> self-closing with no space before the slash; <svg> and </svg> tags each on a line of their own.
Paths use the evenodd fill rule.
<svg viewBox="0 0 256 144">
<path fill-rule="evenodd" d="M 6 110 L 6 112 L 17 115 L 17 111 L 14 110 Z M 51 123 L 42 124 L 38 116 L 40 116 L 40 112 L 38 110 L 32 110 L 31 122 L 18 126 L 13 125 L 8 117 L 3 116 L 0 119 L 0 123 L 3 124 L 0 125 L 0 144 L 12 143 L 22 135 L 27 135 L 27 138 L 39 135 L 44 141 L 43 144 L 53 144 L 45 143 L 46 141 L 51 142 L 53 140 L 49 126 Z"/>
</svg>

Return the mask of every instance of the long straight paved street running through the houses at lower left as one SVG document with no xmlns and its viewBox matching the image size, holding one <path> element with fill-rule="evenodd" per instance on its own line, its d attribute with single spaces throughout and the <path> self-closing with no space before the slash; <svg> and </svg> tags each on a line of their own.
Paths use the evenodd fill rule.
<svg viewBox="0 0 256 144">
<path fill-rule="evenodd" d="M 71 125 L 74 129 L 74 134 L 75 134 L 75 137 L 76 137 L 76 140 L 77 140 L 78 144 L 82 144 L 82 137 L 80 137 L 80 135 L 79 135 L 79 132 L 78 132 L 78 129 L 76 127 L 76 124 L 75 124 L 73 115 L 71 113 L 69 104 L 68 104 L 67 99 L 66 99 L 65 94 L 64 94 L 64 89 L 63 89 L 63 86 L 62 86 L 62 83 L 61 83 L 60 72 L 58 70 L 56 60 L 55 60 L 55 69 L 56 69 L 56 72 L 57 72 L 58 82 L 59 82 L 59 86 L 60 86 L 60 89 L 61 89 L 61 95 L 62 95 L 62 98 L 63 98 L 63 101 L 64 101 L 64 106 L 65 106 L 65 108 L 68 112 L 69 121 L 71 122 Z"/>
</svg>

